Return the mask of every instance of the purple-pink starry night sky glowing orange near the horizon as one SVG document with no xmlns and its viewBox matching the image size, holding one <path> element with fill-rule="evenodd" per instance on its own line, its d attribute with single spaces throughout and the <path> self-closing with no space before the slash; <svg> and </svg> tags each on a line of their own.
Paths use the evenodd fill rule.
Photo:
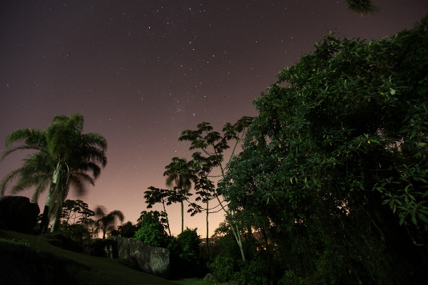
<svg viewBox="0 0 428 285">
<path fill-rule="evenodd" d="M 165 165 L 191 157 L 181 131 L 257 115 L 254 98 L 329 31 L 379 39 L 428 13 L 426 0 L 374 4 L 360 16 L 344 0 L 1 1 L 0 155 L 12 131 L 81 113 L 83 133 L 106 138 L 108 164 L 85 196 L 68 198 L 135 223 L 147 187 L 166 187 Z M 6 157 L 0 178 L 26 153 Z M 179 204 L 167 212 L 179 234 Z M 210 234 L 222 221 L 210 215 Z M 186 215 L 185 227 L 205 237 L 205 214 Z"/>
</svg>

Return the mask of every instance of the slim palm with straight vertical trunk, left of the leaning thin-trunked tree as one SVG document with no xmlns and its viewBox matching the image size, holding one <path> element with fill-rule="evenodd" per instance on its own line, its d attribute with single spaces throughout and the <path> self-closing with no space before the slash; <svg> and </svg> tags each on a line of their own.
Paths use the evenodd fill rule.
<svg viewBox="0 0 428 285">
<path fill-rule="evenodd" d="M 192 181 L 196 179 L 195 174 L 192 170 L 192 162 L 187 162 L 185 158 L 173 157 L 173 161 L 165 166 L 166 171 L 163 172 L 163 176 L 166 176 L 166 185 L 173 187 L 168 202 L 180 202 L 181 204 L 181 232 L 184 231 L 184 213 L 183 213 L 183 201 L 188 199 L 188 196 L 192 195 L 189 193 L 192 187 Z"/>
</svg>

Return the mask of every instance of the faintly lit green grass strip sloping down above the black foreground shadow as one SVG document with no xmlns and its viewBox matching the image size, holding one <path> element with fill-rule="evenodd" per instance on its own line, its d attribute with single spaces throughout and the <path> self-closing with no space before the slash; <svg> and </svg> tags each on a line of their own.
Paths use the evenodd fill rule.
<svg viewBox="0 0 428 285">
<path fill-rule="evenodd" d="M 46 239 L 18 232 L 9 232 L 0 230 L 0 237 L 4 239 L 14 239 L 19 241 L 25 239 L 31 244 L 31 248 L 40 249 L 43 252 L 54 254 L 58 259 L 62 259 L 76 266 L 69 266 L 68 273 L 72 274 L 79 284 L 90 285 L 109 285 L 109 284 L 126 284 L 126 285 L 176 285 L 177 283 L 162 279 L 150 274 L 145 274 L 126 267 L 121 259 L 106 259 L 101 257 L 91 257 L 86 254 L 78 254 L 65 249 L 54 247 L 46 242 Z M 81 264 L 82 269 L 78 269 Z M 83 269 L 86 267 L 86 269 Z"/>
</svg>

